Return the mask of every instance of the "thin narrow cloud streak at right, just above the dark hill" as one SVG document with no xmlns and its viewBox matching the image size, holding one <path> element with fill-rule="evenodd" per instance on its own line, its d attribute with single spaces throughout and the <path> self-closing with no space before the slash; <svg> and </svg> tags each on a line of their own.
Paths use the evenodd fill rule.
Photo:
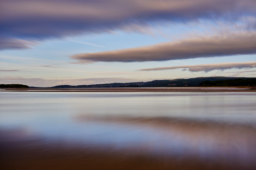
<svg viewBox="0 0 256 170">
<path fill-rule="evenodd" d="M 158 70 L 171 70 L 177 68 L 188 68 L 190 72 L 209 72 L 212 70 L 227 70 L 231 68 L 254 68 L 256 67 L 256 62 L 226 62 L 218 64 L 201 64 L 201 65 L 190 65 L 190 66 L 173 66 L 173 67 L 157 67 L 157 68 L 145 68 L 138 71 L 158 71 Z"/>
</svg>

